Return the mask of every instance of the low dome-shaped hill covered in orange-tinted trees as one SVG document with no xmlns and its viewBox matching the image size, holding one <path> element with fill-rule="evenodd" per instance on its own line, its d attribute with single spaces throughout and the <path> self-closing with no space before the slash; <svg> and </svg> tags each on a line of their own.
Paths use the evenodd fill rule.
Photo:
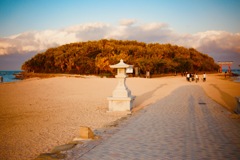
<svg viewBox="0 0 240 160">
<path fill-rule="evenodd" d="M 143 43 L 128 40 L 77 42 L 50 48 L 22 65 L 35 73 L 112 73 L 109 65 L 120 59 L 138 67 L 140 73 L 217 71 L 213 58 L 193 48 L 171 44 Z"/>
</svg>

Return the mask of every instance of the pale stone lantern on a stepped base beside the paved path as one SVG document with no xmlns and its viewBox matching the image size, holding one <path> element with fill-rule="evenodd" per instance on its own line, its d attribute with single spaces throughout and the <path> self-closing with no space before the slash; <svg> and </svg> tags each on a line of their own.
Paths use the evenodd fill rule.
<svg viewBox="0 0 240 160">
<path fill-rule="evenodd" d="M 123 62 L 121 59 L 118 64 L 110 65 L 110 68 L 117 69 L 118 79 L 117 87 L 113 91 L 112 97 L 108 97 L 109 111 L 131 111 L 133 107 L 134 96 L 131 95 L 131 91 L 126 86 L 126 69 L 130 65 Z"/>
</svg>

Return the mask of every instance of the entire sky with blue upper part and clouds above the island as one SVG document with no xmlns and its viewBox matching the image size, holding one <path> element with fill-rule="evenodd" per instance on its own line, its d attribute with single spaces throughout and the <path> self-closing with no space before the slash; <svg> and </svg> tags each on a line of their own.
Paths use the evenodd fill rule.
<svg viewBox="0 0 240 160">
<path fill-rule="evenodd" d="M 171 43 L 240 65 L 239 0 L 0 0 L 0 70 L 100 39 Z"/>
</svg>

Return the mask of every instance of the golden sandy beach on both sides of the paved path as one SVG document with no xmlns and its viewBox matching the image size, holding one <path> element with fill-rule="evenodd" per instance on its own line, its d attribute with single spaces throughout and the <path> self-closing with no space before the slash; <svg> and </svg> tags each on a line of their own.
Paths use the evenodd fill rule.
<svg viewBox="0 0 240 160">
<path fill-rule="evenodd" d="M 201 76 L 200 76 L 201 78 Z M 33 78 L 0 84 L 0 157 L 30 160 L 78 137 L 80 126 L 92 130 L 107 126 L 126 113 L 109 113 L 107 97 L 115 78 L 94 76 Z M 207 81 L 187 82 L 185 77 L 128 78 L 136 96 L 133 112 L 147 107 L 183 85 L 199 85 L 206 94 L 233 112 L 240 83 L 223 75 L 207 75 Z"/>
</svg>

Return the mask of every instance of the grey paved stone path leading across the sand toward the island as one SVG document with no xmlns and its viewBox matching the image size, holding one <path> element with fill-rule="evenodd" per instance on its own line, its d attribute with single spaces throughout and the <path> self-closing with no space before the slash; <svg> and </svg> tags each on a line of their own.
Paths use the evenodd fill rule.
<svg viewBox="0 0 240 160">
<path fill-rule="evenodd" d="M 69 160 L 240 159 L 240 120 L 197 85 L 182 86 L 102 140 L 68 151 Z"/>
</svg>

